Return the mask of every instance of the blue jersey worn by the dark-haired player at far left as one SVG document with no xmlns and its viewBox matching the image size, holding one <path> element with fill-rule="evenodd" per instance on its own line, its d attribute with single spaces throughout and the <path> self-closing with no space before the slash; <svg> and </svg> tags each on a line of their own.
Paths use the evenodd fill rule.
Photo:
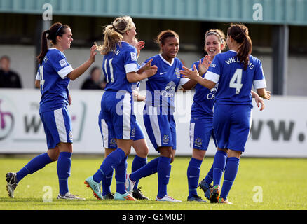
<svg viewBox="0 0 307 224">
<path fill-rule="evenodd" d="M 55 48 L 48 50 L 36 75 L 41 84 L 39 113 L 54 111 L 63 105 L 68 105 L 70 79 L 67 75 L 73 70 L 60 50 Z"/>
</svg>

